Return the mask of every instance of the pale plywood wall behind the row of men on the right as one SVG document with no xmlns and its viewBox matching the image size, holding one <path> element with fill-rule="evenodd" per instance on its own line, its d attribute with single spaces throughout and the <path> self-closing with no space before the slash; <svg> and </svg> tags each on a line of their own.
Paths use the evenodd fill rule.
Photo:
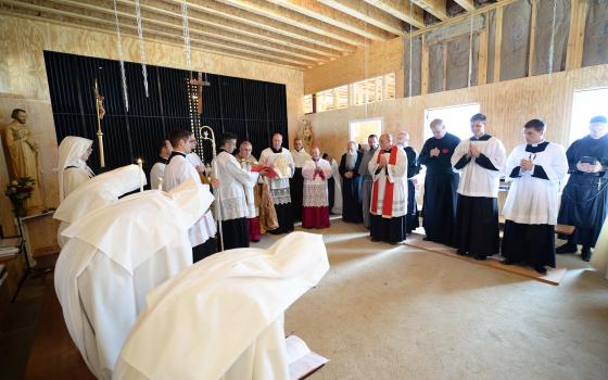
<svg viewBox="0 0 608 380">
<path fill-rule="evenodd" d="M 601 86 L 608 86 L 608 65 L 401 98 L 306 117 L 313 124 L 315 140 L 321 144 L 321 150 L 333 156 L 344 152 L 349 122 L 367 117 L 382 117 L 387 132 L 409 131 L 411 145 L 419 152 L 423 143 L 425 110 L 468 103 L 480 104 L 481 112 L 489 118 L 489 134 L 502 139 L 508 151 L 522 142 L 523 124 L 536 117 L 547 123 L 548 140 L 566 145 L 574 90 Z M 606 112 L 598 110 L 598 113 Z"/>
</svg>

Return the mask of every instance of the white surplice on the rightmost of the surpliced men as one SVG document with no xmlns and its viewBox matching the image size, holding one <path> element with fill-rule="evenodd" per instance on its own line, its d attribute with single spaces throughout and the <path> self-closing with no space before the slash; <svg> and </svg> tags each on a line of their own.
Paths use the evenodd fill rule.
<svg viewBox="0 0 608 380">
<path fill-rule="evenodd" d="M 568 159 L 563 147 L 548 143 L 542 152 L 525 151 L 518 145 L 507 159 L 505 174 L 511 181 L 503 216 L 524 225 L 556 225 L 559 211 L 559 183 L 568 173 Z M 522 170 L 521 160 L 534 163 L 532 170 Z M 542 167 L 548 179 L 533 177 Z M 516 178 L 511 177 L 515 170 Z"/>
</svg>

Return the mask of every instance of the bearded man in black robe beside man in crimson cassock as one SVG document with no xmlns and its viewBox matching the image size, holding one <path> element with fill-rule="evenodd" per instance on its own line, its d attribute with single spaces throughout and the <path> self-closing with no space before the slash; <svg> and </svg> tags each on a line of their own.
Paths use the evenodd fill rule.
<svg viewBox="0 0 608 380">
<path fill-rule="evenodd" d="M 340 176 L 342 177 L 342 220 L 362 223 L 362 177 L 359 165 L 363 154 L 357 151 L 355 141 L 349 141 L 346 153 L 340 160 Z"/>
</svg>

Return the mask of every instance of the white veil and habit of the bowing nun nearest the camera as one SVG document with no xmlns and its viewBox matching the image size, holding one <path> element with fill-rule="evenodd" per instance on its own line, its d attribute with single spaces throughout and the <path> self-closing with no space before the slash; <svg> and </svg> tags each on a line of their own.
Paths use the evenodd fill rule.
<svg viewBox="0 0 608 380">
<path fill-rule="evenodd" d="M 328 269 L 305 232 L 197 263 L 148 295 L 115 379 L 288 380 L 283 313 Z"/>
</svg>

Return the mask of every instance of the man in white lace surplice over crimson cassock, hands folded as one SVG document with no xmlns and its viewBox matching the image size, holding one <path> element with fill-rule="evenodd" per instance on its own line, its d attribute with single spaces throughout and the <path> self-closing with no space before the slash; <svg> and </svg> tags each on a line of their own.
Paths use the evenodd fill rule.
<svg viewBox="0 0 608 380">
<path fill-rule="evenodd" d="M 319 147 L 313 147 L 313 156 L 304 162 L 304 201 L 302 202 L 302 227 L 329 228 L 328 179 L 331 165 L 320 157 Z"/>
</svg>

